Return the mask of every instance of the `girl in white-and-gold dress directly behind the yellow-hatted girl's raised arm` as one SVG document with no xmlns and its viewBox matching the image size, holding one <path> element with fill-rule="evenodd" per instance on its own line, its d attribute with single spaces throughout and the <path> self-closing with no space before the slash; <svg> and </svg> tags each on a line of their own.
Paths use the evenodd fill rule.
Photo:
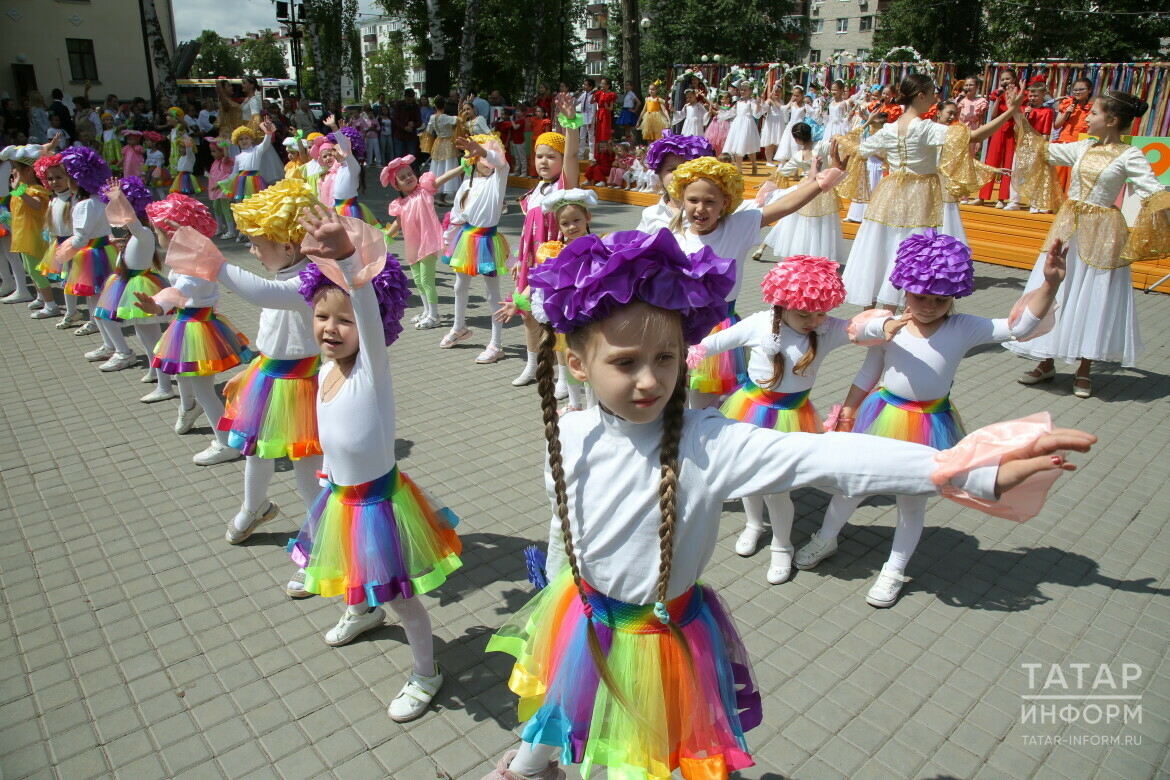
<svg viewBox="0 0 1170 780">
<path fill-rule="evenodd" d="M 813 160 L 820 161 L 821 168 L 827 168 L 830 160 L 830 139 L 823 138 L 813 144 L 808 125 L 796 124 L 792 130 L 799 150 L 782 165 L 775 178 L 800 180 L 808 175 Z M 778 193 L 769 194 L 769 187 L 775 188 L 775 180 L 769 180 L 760 187 L 760 194 L 778 198 Z M 782 191 L 783 192 L 783 191 Z M 757 196 L 758 200 L 758 196 Z M 841 206 L 837 193 L 832 189 L 817 195 L 812 202 L 800 207 L 796 214 L 776 223 L 764 239 L 777 257 L 793 255 L 812 255 L 828 257 L 833 262 L 845 260 L 845 237 L 841 235 Z"/>
</svg>

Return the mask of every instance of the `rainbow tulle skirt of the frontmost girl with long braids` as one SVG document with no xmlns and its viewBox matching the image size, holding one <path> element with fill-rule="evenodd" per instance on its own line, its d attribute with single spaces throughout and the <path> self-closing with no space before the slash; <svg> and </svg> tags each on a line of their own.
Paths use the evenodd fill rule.
<svg viewBox="0 0 1170 780">
<path fill-rule="evenodd" d="M 586 617 L 565 567 L 488 642 L 516 657 L 508 686 L 526 720 L 521 738 L 560 748 L 564 764 L 594 765 L 608 776 L 716 780 L 752 766 L 744 732 L 760 723 L 760 697 L 748 651 L 727 606 L 698 585 L 667 602 L 680 647 L 652 605 L 610 599 L 583 586 Z M 600 640 L 617 690 L 601 682 L 589 649 Z"/>
</svg>

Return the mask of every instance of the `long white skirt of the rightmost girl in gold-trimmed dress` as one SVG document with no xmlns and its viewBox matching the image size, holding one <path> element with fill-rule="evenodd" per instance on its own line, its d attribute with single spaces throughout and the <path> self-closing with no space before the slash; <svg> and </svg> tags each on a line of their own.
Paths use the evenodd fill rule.
<svg viewBox="0 0 1170 780">
<path fill-rule="evenodd" d="M 1044 283 L 1044 253 L 1032 267 L 1025 291 Z M 1076 236 L 1068 242 L 1067 272 L 1057 291 L 1057 326 L 1030 341 L 1004 346 L 1033 360 L 1054 358 L 1075 363 L 1080 358 L 1120 363 L 1129 368 L 1142 352 L 1142 334 L 1134 305 L 1129 267 L 1106 270 L 1081 262 Z"/>
</svg>

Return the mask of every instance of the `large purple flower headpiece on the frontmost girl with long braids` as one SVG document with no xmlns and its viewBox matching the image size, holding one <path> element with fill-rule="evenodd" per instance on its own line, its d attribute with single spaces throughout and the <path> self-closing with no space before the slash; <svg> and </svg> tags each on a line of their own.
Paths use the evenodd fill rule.
<svg viewBox="0 0 1170 780">
<path fill-rule="evenodd" d="M 687 255 L 666 228 L 604 239 L 585 235 L 529 274 L 532 311 L 541 322 L 570 332 L 605 319 L 629 303 L 677 311 L 687 344 L 698 344 L 727 317 L 735 261 L 710 247 Z"/>
</svg>

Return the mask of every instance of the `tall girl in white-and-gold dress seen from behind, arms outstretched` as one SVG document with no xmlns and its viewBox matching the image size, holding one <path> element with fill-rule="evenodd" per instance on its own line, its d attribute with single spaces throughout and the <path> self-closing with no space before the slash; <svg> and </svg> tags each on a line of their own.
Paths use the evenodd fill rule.
<svg viewBox="0 0 1170 780">
<path fill-rule="evenodd" d="M 966 240 L 955 201 L 994 172 L 971 158 L 970 141 L 990 136 L 1012 116 L 1005 111 L 972 133 L 962 123 L 948 127 L 922 119 L 936 102 L 937 90 L 929 76 L 907 76 L 900 92 L 906 111 L 862 141 L 858 151 L 862 157 L 885 153 L 890 171 L 869 200 L 845 265 L 845 299 L 859 306 L 875 302 L 901 305 L 902 292 L 888 279 L 897 247 L 907 236 L 936 228 Z M 1018 104 L 1024 95 L 1011 99 Z M 952 195 L 948 202 L 943 200 L 944 184 Z"/>
</svg>

